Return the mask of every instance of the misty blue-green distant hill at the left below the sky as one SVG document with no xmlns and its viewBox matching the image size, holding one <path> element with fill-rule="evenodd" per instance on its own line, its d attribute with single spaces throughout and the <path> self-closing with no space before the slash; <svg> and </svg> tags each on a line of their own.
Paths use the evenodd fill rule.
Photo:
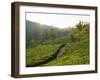
<svg viewBox="0 0 100 80">
<path fill-rule="evenodd" d="M 26 20 L 26 46 L 30 44 L 31 40 L 40 41 L 47 40 L 53 37 L 62 35 L 63 29 L 54 26 L 41 25 L 36 22 Z"/>
</svg>

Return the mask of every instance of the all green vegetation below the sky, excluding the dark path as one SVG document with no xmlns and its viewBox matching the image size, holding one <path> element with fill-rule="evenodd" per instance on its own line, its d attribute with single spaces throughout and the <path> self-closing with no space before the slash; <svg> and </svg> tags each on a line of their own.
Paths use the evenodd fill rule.
<svg viewBox="0 0 100 80">
<path fill-rule="evenodd" d="M 26 66 L 45 61 L 62 44 L 66 44 L 64 53 L 40 66 L 89 64 L 89 23 L 60 29 L 26 21 Z"/>
</svg>

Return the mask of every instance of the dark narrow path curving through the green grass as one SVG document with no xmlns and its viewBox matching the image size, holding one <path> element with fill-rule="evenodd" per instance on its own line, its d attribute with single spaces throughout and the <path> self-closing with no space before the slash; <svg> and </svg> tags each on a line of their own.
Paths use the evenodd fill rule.
<svg viewBox="0 0 100 80">
<path fill-rule="evenodd" d="M 65 51 L 65 44 L 62 44 L 62 45 L 57 49 L 57 51 L 56 51 L 54 54 L 52 54 L 50 57 L 48 57 L 46 60 L 41 61 L 41 62 L 38 62 L 38 63 L 33 64 L 33 65 L 27 65 L 27 67 L 36 67 L 36 66 L 40 66 L 40 65 L 42 65 L 42 64 L 46 64 L 46 63 L 48 63 L 48 62 L 50 62 L 50 61 L 53 61 L 53 60 L 55 60 L 56 58 L 58 58 L 58 57 L 60 57 L 61 55 L 63 55 L 64 51 Z"/>
</svg>

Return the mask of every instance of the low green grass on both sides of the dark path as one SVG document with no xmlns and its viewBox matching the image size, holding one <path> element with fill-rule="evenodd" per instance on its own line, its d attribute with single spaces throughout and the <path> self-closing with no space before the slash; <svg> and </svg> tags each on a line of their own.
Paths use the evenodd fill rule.
<svg viewBox="0 0 100 80">
<path fill-rule="evenodd" d="M 35 64 L 45 60 L 50 55 L 54 54 L 60 44 L 38 45 L 27 49 L 27 64 Z M 79 65 L 89 64 L 89 40 L 83 39 L 77 42 L 67 43 L 64 54 L 41 66 L 61 66 L 61 65 Z"/>
</svg>

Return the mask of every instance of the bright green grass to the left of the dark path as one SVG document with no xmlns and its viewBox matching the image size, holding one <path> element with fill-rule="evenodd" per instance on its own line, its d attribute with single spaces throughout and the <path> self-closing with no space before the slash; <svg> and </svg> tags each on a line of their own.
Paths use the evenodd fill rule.
<svg viewBox="0 0 100 80">
<path fill-rule="evenodd" d="M 55 53 L 59 46 L 60 44 L 46 44 L 26 49 L 26 64 L 32 65 L 45 60 Z"/>
</svg>

